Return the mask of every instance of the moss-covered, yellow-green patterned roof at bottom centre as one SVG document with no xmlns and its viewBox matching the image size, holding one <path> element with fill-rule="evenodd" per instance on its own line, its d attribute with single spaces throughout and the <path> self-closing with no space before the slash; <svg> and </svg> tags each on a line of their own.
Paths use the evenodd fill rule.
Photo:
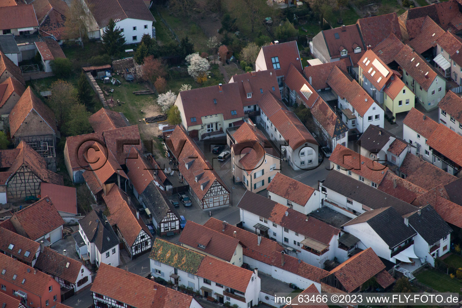
<svg viewBox="0 0 462 308">
<path fill-rule="evenodd" d="M 205 255 L 156 238 L 152 245 L 149 258 L 173 266 L 184 272 L 195 274 L 199 266 L 201 266 L 201 262 L 205 258 Z"/>
</svg>

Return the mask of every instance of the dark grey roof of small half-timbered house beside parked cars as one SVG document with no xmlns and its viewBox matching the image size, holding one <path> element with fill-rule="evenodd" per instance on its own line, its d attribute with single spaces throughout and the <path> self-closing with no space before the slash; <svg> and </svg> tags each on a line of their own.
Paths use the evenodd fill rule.
<svg viewBox="0 0 462 308">
<path fill-rule="evenodd" d="M 152 181 L 146 186 L 143 193 L 141 193 L 141 198 L 143 198 L 145 205 L 151 212 L 152 218 L 157 223 L 160 223 L 169 211 L 172 211 L 180 219 L 178 211 L 176 211 L 175 207 L 171 205 Z M 155 227 L 156 229 L 158 228 L 158 226 Z"/>
</svg>

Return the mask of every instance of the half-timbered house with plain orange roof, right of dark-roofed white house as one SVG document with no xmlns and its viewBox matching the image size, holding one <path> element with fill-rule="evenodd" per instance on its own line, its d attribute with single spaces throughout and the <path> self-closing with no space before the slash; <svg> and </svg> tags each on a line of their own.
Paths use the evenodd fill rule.
<svg viewBox="0 0 462 308">
<path fill-rule="evenodd" d="M 140 212 L 134 210 L 130 197 L 114 185 L 103 195 L 103 199 L 110 213 L 109 223 L 121 237 L 130 258 L 151 249 L 151 233 L 141 219 Z"/>
</svg>

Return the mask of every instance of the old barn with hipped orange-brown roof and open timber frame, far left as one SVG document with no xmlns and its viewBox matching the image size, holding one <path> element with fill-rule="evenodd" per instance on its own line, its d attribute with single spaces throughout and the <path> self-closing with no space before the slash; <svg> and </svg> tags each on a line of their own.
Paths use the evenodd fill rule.
<svg viewBox="0 0 462 308">
<path fill-rule="evenodd" d="M 56 171 L 55 114 L 30 87 L 24 91 L 9 115 L 10 136 L 15 145 L 21 140 L 30 145 L 47 162 L 48 169 Z"/>
</svg>

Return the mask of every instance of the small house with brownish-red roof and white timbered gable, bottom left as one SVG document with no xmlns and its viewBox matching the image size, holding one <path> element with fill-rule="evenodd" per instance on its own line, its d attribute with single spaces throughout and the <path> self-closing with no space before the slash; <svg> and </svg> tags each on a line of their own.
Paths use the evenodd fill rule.
<svg viewBox="0 0 462 308">
<path fill-rule="evenodd" d="M 78 292 L 91 284 L 91 272 L 88 268 L 48 247 L 43 248 L 39 254 L 35 267 L 55 278 L 61 288 L 73 292 Z M 73 292 L 71 291 L 71 294 Z"/>
</svg>

